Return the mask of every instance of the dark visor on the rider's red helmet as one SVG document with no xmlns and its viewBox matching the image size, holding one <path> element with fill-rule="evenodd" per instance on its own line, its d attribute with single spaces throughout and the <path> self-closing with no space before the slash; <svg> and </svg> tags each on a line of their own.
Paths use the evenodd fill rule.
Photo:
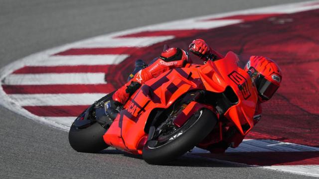
<svg viewBox="0 0 319 179">
<path fill-rule="evenodd" d="M 270 99 L 279 88 L 277 85 L 265 79 L 261 74 L 256 78 L 255 84 L 259 94 L 267 100 Z"/>
</svg>

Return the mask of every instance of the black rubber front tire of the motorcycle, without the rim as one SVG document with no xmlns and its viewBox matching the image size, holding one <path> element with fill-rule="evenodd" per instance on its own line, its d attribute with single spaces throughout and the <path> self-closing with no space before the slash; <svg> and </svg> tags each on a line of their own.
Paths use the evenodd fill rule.
<svg viewBox="0 0 319 179">
<path fill-rule="evenodd" d="M 193 120 L 191 125 L 187 124 L 189 127 L 183 129 L 185 131 L 180 135 L 176 135 L 177 137 L 173 140 L 156 148 L 149 147 L 149 143 L 153 141 L 148 141 L 143 148 L 143 159 L 149 164 L 161 165 L 182 156 L 200 143 L 217 123 L 217 116 L 211 110 L 202 108 L 197 112 L 200 111 L 202 111 L 202 114 L 196 120 Z M 187 126 L 185 124 L 183 126 Z"/>
</svg>

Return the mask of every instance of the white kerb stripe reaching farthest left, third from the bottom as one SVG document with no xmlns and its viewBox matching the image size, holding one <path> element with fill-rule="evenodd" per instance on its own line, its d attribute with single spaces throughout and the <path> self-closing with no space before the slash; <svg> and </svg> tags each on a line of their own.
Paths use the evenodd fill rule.
<svg viewBox="0 0 319 179">
<path fill-rule="evenodd" d="M 10 74 L 4 85 L 106 84 L 104 73 Z"/>
</svg>

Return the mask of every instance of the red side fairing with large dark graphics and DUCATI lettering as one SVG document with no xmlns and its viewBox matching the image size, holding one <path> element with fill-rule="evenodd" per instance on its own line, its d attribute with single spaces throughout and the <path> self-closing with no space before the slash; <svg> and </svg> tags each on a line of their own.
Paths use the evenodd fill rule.
<svg viewBox="0 0 319 179">
<path fill-rule="evenodd" d="M 168 108 L 180 95 L 193 89 L 204 89 L 204 86 L 198 72 L 191 68 L 173 69 L 147 81 L 124 105 L 104 135 L 105 142 L 127 152 L 141 152 L 137 148 L 147 135 L 144 127 L 150 112 Z"/>
</svg>

